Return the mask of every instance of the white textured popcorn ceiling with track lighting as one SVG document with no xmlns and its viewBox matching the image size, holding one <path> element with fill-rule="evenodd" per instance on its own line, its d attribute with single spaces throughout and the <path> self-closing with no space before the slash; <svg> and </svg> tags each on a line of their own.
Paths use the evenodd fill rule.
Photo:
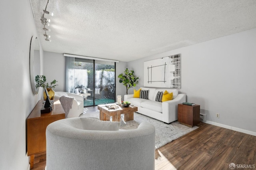
<svg viewBox="0 0 256 170">
<path fill-rule="evenodd" d="M 119 61 L 256 28 L 256 0 L 31 0 L 44 51 Z"/>
</svg>

